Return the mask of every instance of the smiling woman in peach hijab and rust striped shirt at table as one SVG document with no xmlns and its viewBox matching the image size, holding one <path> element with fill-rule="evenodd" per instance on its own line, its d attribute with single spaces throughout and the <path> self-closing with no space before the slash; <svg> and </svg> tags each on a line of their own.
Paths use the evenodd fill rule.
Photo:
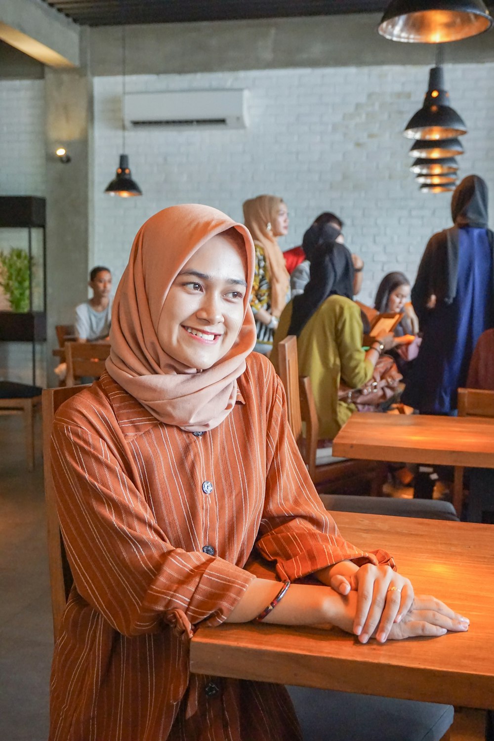
<svg viewBox="0 0 494 741">
<path fill-rule="evenodd" d="M 246 227 L 216 209 L 149 219 L 116 293 L 108 372 L 56 415 L 74 586 L 50 741 L 298 741 L 284 687 L 190 675 L 201 625 L 329 622 L 362 643 L 467 628 L 413 602 L 393 559 L 355 548 L 324 511 L 281 382 L 251 352 L 254 262 Z"/>
</svg>

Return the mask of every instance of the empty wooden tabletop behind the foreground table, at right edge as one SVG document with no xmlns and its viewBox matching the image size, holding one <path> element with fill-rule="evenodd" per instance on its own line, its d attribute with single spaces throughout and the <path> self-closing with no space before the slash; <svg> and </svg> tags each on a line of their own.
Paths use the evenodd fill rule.
<svg viewBox="0 0 494 741">
<path fill-rule="evenodd" d="M 336 435 L 333 455 L 494 468 L 494 419 L 356 412 Z"/>
</svg>

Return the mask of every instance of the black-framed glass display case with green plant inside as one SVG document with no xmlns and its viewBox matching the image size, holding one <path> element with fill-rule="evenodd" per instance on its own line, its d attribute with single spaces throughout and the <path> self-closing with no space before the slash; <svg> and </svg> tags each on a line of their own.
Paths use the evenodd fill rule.
<svg viewBox="0 0 494 741">
<path fill-rule="evenodd" d="M 0 196 L 0 341 L 46 340 L 46 205 L 36 196 Z"/>
</svg>

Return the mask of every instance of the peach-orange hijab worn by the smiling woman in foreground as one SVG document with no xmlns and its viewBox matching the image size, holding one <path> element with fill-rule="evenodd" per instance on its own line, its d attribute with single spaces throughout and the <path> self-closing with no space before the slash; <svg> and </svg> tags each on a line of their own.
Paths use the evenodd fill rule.
<svg viewBox="0 0 494 741">
<path fill-rule="evenodd" d="M 229 353 L 212 368 L 198 371 L 177 362 L 161 347 L 159 317 L 173 280 L 193 253 L 232 227 L 243 237 L 247 256 L 244 323 Z M 204 432 L 220 425 L 233 410 L 236 379 L 244 373 L 245 358 L 256 343 L 249 305 L 254 262 L 246 227 L 209 206 L 165 208 L 138 230 L 113 301 L 106 365 L 110 376 L 161 422 Z"/>
</svg>

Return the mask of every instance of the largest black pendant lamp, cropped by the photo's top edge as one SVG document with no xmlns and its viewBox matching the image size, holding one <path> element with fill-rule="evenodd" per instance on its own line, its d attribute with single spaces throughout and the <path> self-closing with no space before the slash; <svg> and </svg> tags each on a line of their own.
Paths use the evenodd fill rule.
<svg viewBox="0 0 494 741">
<path fill-rule="evenodd" d="M 391 41 L 444 44 L 477 36 L 492 25 L 482 0 L 393 0 L 378 32 Z"/>
</svg>

